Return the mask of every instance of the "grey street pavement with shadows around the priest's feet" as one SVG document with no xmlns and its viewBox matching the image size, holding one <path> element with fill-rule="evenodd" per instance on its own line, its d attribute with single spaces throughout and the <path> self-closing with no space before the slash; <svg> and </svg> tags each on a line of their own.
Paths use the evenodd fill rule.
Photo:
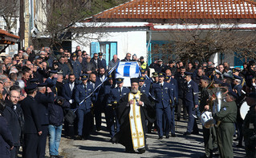
<svg viewBox="0 0 256 158">
<path fill-rule="evenodd" d="M 62 137 L 59 146 L 59 154 L 67 158 L 99 157 L 99 158 L 122 158 L 122 157 L 199 157 L 204 154 L 203 136 L 201 123 L 197 120 L 199 135 L 182 136 L 186 130 L 187 121 L 177 121 L 177 137 L 157 140 L 157 132 L 147 134 L 148 151 L 144 154 L 126 153 L 121 144 L 109 142 L 110 135 L 107 132 L 105 122 L 103 130 L 93 133 L 88 140 L 72 140 Z M 234 141 L 234 146 L 238 144 Z M 48 154 L 48 153 L 47 153 Z M 234 147 L 234 157 L 245 157 L 244 148 Z M 217 157 L 217 156 L 215 156 Z"/>
</svg>

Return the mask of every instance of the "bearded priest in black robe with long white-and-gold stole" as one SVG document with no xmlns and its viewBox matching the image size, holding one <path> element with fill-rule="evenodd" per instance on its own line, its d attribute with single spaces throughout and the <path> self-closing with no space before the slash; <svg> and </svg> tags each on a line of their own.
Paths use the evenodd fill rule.
<svg viewBox="0 0 256 158">
<path fill-rule="evenodd" d="M 121 98 L 116 108 L 117 117 L 120 120 L 120 132 L 112 138 L 112 143 L 123 144 L 126 152 L 134 152 L 137 149 L 140 153 L 144 153 L 146 150 L 145 120 L 153 122 L 154 109 L 148 97 L 138 90 L 138 78 L 132 78 L 131 82 L 131 92 Z M 136 121 L 138 124 L 135 124 Z M 136 141 L 138 143 L 135 143 Z"/>
</svg>

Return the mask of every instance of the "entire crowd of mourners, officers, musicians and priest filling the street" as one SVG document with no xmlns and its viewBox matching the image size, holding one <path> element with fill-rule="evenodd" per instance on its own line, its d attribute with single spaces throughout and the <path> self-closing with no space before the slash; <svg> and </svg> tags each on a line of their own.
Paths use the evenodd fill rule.
<svg viewBox="0 0 256 158">
<path fill-rule="evenodd" d="M 112 143 L 123 144 L 126 152 L 143 153 L 148 149 L 146 132 L 157 132 L 158 140 L 176 137 L 175 121 L 181 119 L 188 120 L 184 136 L 198 135 L 197 122 L 205 111 L 213 113 L 217 124 L 202 127 L 201 157 L 212 157 L 216 151 L 221 157 L 233 157 L 236 135 L 238 147 L 245 142 L 246 156 L 255 156 L 254 61 L 244 63 L 243 69 L 211 61 L 165 65 L 161 58 L 148 65 L 144 57 L 127 53 L 122 60 L 114 55 L 107 65 L 103 53 L 92 55 L 80 46 L 73 53 L 59 49 L 55 56 L 49 47 L 36 52 L 30 45 L 14 57 L 2 58 L 0 156 L 17 157 L 22 147 L 23 157 L 45 157 L 49 136 L 50 156 L 63 157 L 62 131 L 69 139 L 90 139 L 91 132 L 103 128 L 102 113 Z M 112 71 L 120 61 L 140 65 L 141 75 L 131 79 L 130 88 Z M 221 102 L 216 97 L 219 91 Z M 239 109 L 244 101 L 250 111 L 243 120 Z M 216 104 L 221 109 L 215 110 Z"/>
</svg>

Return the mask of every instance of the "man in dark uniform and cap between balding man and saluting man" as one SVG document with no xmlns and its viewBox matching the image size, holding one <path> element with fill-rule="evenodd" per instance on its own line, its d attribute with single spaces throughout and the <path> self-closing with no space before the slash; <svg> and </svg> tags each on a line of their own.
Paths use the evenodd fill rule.
<svg viewBox="0 0 256 158">
<path fill-rule="evenodd" d="M 26 85 L 27 97 L 21 101 L 21 107 L 24 113 L 24 148 L 23 157 L 38 157 L 36 150 L 39 144 L 39 136 L 42 135 L 41 122 L 39 118 L 38 103 L 35 101 L 37 85 Z"/>
</svg>

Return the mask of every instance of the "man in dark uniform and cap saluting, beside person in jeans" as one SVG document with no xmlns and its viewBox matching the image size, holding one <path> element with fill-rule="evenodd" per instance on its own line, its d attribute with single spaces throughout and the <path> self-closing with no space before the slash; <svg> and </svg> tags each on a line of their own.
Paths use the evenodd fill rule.
<svg viewBox="0 0 256 158">
<path fill-rule="evenodd" d="M 42 125 L 42 135 L 39 137 L 39 147 L 38 147 L 38 156 L 41 158 L 45 157 L 45 148 L 47 144 L 47 134 L 48 134 L 48 124 L 49 124 L 49 115 L 48 115 L 48 104 L 55 101 L 55 94 L 51 92 L 49 87 L 46 87 L 47 83 L 39 84 L 39 92 L 35 96 L 35 101 L 39 103 L 39 117 Z"/>
</svg>

